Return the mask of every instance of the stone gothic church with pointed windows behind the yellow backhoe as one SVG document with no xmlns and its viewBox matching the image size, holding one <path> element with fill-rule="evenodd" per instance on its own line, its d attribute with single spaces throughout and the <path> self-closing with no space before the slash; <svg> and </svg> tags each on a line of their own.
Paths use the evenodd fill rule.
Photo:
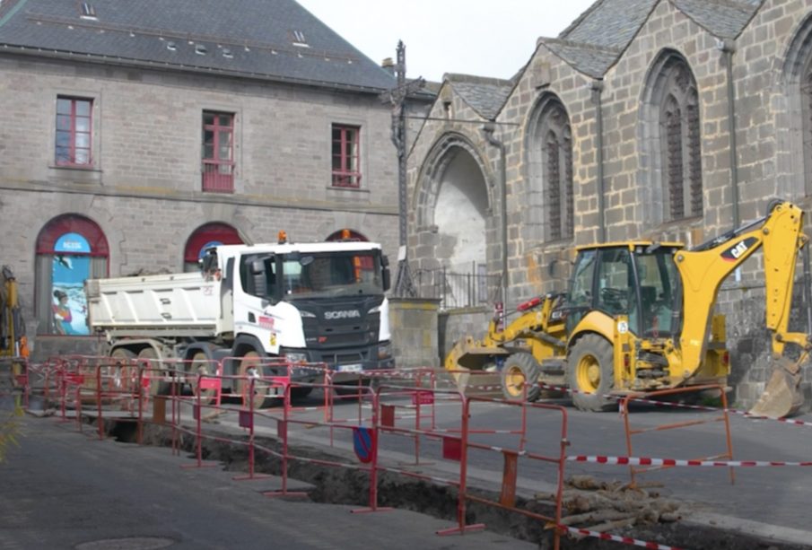
<svg viewBox="0 0 812 550">
<path fill-rule="evenodd" d="M 409 162 L 413 271 L 474 266 L 486 304 L 506 272 L 511 310 L 561 289 L 577 245 L 696 245 L 774 196 L 808 211 L 810 83 L 812 1 L 598 0 L 511 80 L 445 76 Z M 762 271 L 720 293 L 744 405 L 769 363 Z M 441 319 L 446 345 L 489 308 Z"/>
</svg>

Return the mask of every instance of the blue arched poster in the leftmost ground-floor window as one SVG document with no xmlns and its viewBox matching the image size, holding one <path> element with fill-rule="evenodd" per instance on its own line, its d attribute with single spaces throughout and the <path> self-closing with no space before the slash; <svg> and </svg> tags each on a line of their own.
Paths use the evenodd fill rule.
<svg viewBox="0 0 812 550">
<path fill-rule="evenodd" d="M 65 233 L 54 245 L 51 295 L 54 331 L 59 335 L 86 336 L 87 297 L 84 281 L 91 275 L 91 252 L 87 240 L 78 233 Z"/>
</svg>

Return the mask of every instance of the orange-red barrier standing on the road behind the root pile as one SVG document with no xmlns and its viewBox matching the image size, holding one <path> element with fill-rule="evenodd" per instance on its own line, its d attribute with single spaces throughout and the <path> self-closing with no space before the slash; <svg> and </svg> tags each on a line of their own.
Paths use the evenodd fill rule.
<svg viewBox="0 0 812 550">
<path fill-rule="evenodd" d="M 724 446 L 725 450 L 718 454 L 711 457 L 704 457 L 704 458 L 694 458 L 694 460 L 717 460 L 717 459 L 733 459 L 733 444 L 730 439 L 730 420 L 728 415 L 728 398 L 725 395 L 725 390 L 719 384 L 708 384 L 704 386 L 689 386 L 685 388 L 671 388 L 671 389 L 661 389 L 659 391 L 649 392 L 645 395 L 647 397 L 656 398 L 656 397 L 663 397 L 663 396 L 679 396 L 691 393 L 698 393 L 698 392 L 705 392 L 705 391 L 713 391 L 714 393 L 718 393 L 721 398 L 722 408 L 721 408 L 721 415 L 720 416 L 713 416 L 712 418 L 705 418 L 705 419 L 694 419 L 685 422 L 677 422 L 677 423 L 664 423 L 659 425 L 647 426 L 644 428 L 633 428 L 630 420 L 630 410 L 629 410 L 629 401 L 635 397 L 640 397 L 639 395 L 630 395 L 624 397 L 620 402 L 620 411 L 621 415 L 624 419 L 624 429 L 626 435 L 626 451 L 629 457 L 633 457 L 634 453 L 632 450 L 632 436 L 639 435 L 642 433 L 650 433 L 650 432 L 664 432 L 668 430 L 676 430 L 679 428 L 686 428 L 690 426 L 697 426 L 705 423 L 723 423 L 724 424 Z M 658 466 L 649 466 L 649 467 L 642 467 L 642 468 L 635 468 L 633 465 L 629 466 L 629 474 L 631 476 L 631 485 L 636 486 L 636 475 L 654 470 L 654 469 L 663 469 L 671 467 L 669 465 L 658 465 Z M 730 483 L 735 482 L 735 474 L 733 472 L 733 468 L 730 468 Z"/>
</svg>

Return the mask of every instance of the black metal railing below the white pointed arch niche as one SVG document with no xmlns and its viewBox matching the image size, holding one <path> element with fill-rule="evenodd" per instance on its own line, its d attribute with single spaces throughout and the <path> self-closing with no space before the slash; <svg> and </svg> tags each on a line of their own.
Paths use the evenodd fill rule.
<svg viewBox="0 0 812 550">
<path fill-rule="evenodd" d="M 471 308 L 493 303 L 499 296 L 499 275 L 471 272 L 454 273 L 444 267 L 418 269 L 413 275 L 421 298 L 440 299 L 441 310 Z"/>
</svg>

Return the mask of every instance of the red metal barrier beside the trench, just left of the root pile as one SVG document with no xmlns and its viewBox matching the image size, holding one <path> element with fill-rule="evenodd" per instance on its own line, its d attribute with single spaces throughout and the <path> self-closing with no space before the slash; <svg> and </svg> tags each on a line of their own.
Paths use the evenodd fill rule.
<svg viewBox="0 0 812 550">
<path fill-rule="evenodd" d="M 474 415 L 472 408 L 487 404 L 493 408 L 494 405 L 502 409 L 512 409 L 518 415 L 518 422 L 523 429 L 514 432 L 508 438 L 501 437 L 502 444 L 495 446 L 486 441 L 479 441 L 483 438 L 475 437 L 476 434 L 495 433 L 485 428 L 472 430 L 471 423 L 474 419 L 479 419 L 485 415 Z M 557 433 L 551 436 L 550 433 L 538 433 L 538 431 L 524 432 L 524 427 L 528 425 L 528 414 L 556 415 L 560 416 L 560 423 Z M 489 415 L 495 413 L 490 412 Z M 542 424 L 539 422 L 538 424 Z M 534 437 L 535 436 L 535 437 Z M 514 440 L 514 441 L 511 441 Z M 512 444 L 511 444 L 512 443 Z M 467 501 L 479 502 L 500 508 L 502 510 L 519 513 L 523 516 L 545 521 L 547 526 L 554 528 L 554 548 L 560 546 L 561 531 L 555 526 L 560 525 L 562 515 L 562 495 L 564 465 L 566 462 L 566 448 L 569 445 L 567 439 L 567 412 L 563 406 L 547 405 L 543 403 L 526 403 L 519 401 L 506 401 L 502 399 L 492 399 L 487 397 L 469 397 L 465 402 L 462 416 L 462 433 L 457 446 L 450 446 L 454 452 L 458 452 L 460 461 L 460 483 L 458 494 L 457 526 L 455 528 L 438 531 L 440 535 L 465 532 L 466 524 L 466 503 Z M 458 450 L 457 450 L 458 449 Z M 449 451 L 450 454 L 451 451 Z M 500 453 L 502 455 L 502 491 L 499 501 L 492 501 L 482 496 L 477 496 L 467 492 L 467 462 L 469 454 L 472 452 Z M 555 490 L 554 490 L 554 513 L 547 516 L 538 512 L 528 511 L 516 505 L 517 479 L 519 477 L 520 464 L 524 461 L 537 461 L 541 464 L 549 464 L 555 467 Z"/>
</svg>

